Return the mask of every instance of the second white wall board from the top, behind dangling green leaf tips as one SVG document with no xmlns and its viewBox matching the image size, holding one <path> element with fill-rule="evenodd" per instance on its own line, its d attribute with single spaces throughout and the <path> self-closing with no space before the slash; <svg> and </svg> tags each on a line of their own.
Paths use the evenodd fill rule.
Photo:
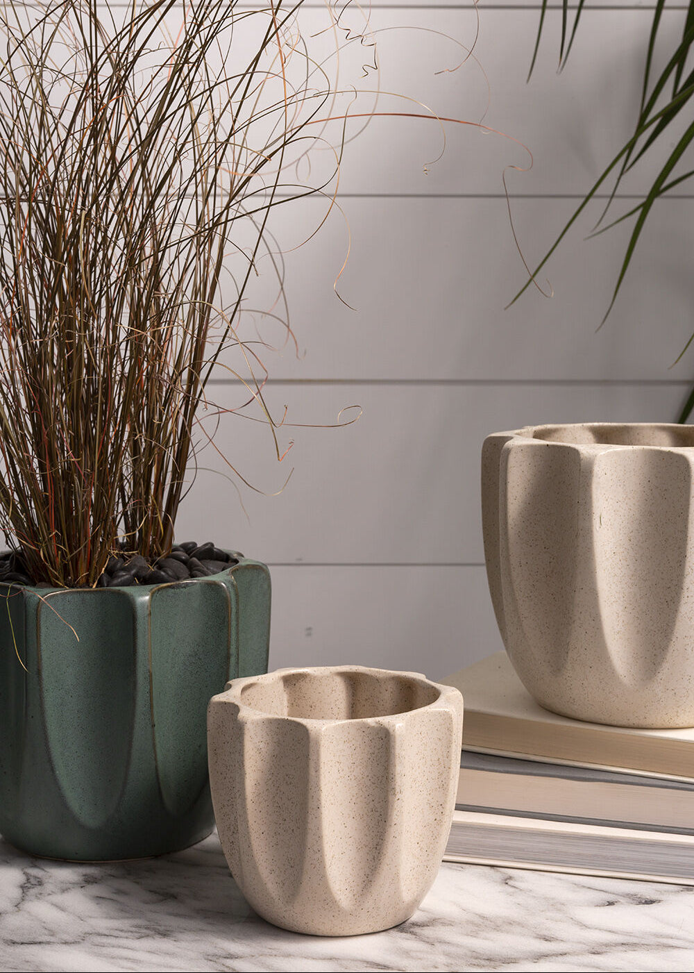
<svg viewBox="0 0 694 973">
<path fill-rule="evenodd" d="M 600 378 L 677 379 L 694 374 L 694 348 L 672 367 L 692 329 L 694 199 L 654 207 L 616 305 L 597 331 L 630 232 L 591 240 L 601 211 L 592 204 L 564 239 L 535 287 L 507 310 L 526 275 L 500 199 L 346 199 L 348 247 L 336 210 L 308 243 L 325 207 L 301 200 L 276 211 L 287 250 L 286 292 L 294 346 L 270 316 L 275 284 L 269 260 L 247 292 L 241 335 L 277 352 L 261 357 L 275 378 Z M 566 199 L 514 199 L 523 253 L 536 262 L 573 212 Z M 282 313 L 282 308 L 274 308 Z M 254 348 L 257 345 L 254 345 Z M 238 350 L 226 364 L 247 374 Z M 222 370 L 218 376 L 227 375 Z"/>
</svg>

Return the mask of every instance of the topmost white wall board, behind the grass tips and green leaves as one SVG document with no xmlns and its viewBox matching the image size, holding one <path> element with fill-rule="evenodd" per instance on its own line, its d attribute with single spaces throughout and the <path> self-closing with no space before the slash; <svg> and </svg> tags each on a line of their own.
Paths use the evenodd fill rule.
<svg viewBox="0 0 694 973">
<path fill-rule="evenodd" d="M 116 16 L 124 16 L 122 8 Z M 666 7 L 662 31 L 674 42 L 684 14 Z M 353 136 L 364 126 L 373 107 L 369 91 L 380 85 L 377 111 L 424 114 L 427 119 L 379 117 L 371 121 L 345 151 L 340 175 L 342 193 L 369 194 L 496 194 L 503 193 L 505 167 L 525 167 L 527 173 L 507 168 L 513 194 L 580 194 L 631 134 L 642 88 L 642 64 L 651 11 L 644 8 L 606 7 L 584 11 L 576 33 L 572 56 L 557 75 L 561 11 L 545 18 L 544 38 L 530 84 L 528 68 L 538 30 L 538 10 L 525 7 L 490 7 L 479 11 L 479 36 L 474 57 L 462 63 L 477 34 L 477 13 L 463 8 L 374 8 L 366 17 L 350 6 L 340 15 L 334 32 L 330 13 L 320 6 L 299 13 L 298 22 L 311 55 L 333 75 L 335 37 L 342 44 L 338 87 L 344 92 L 332 114 L 354 116 L 348 126 Z M 173 11 L 167 21 L 176 36 L 181 20 Z M 264 15 L 241 18 L 235 27 L 233 62 L 247 63 L 255 51 Z M 369 34 L 371 31 L 371 34 Z M 364 35 L 364 37 L 362 36 Z M 444 36 L 447 35 L 447 36 Z M 288 33 L 288 43 L 294 35 Z M 371 67 L 377 45 L 379 72 Z M 667 45 L 666 45 L 667 46 Z M 659 51 L 660 59 L 664 50 Z M 214 57 L 213 57 L 214 59 Z M 658 61 L 658 56 L 656 56 Z M 300 84 L 305 61 L 297 50 L 288 59 L 291 83 Z M 232 70 L 237 70 L 234 66 Z M 143 79 L 144 80 L 144 79 Z M 281 101 L 282 91 L 268 83 L 266 96 Z M 322 88 L 312 79 L 311 86 Z M 396 92 L 391 93 L 391 92 Z M 398 94 L 399 96 L 396 96 Z M 486 111 L 486 114 L 485 114 Z M 446 124 L 431 120 L 432 114 L 498 129 L 501 135 L 483 134 L 474 125 Z M 686 114 L 686 113 L 684 113 Z M 307 117 L 307 116 L 306 116 Z M 274 119 L 273 121 L 278 121 Z M 267 131 L 256 125 L 249 134 L 250 146 L 262 152 Z M 259 133 L 258 129 L 262 132 Z M 268 129 L 269 130 L 269 129 Z M 438 159 L 444 147 L 442 158 Z M 674 129 L 675 130 L 675 129 Z M 325 134 L 339 142 L 342 126 L 335 121 L 325 133 L 310 125 L 303 134 Z M 244 130 L 244 136 L 246 135 Z M 303 151 L 301 141 L 295 150 Z M 650 155 L 650 154 L 649 154 Z M 255 158 L 255 156 L 254 156 Z M 293 155 L 294 159 L 295 156 Z M 662 163 L 656 152 L 646 158 L 625 181 L 627 193 L 642 193 Z M 682 166 L 691 168 L 684 158 Z M 246 162 L 245 164 L 248 164 Z M 310 178 L 320 184 L 330 175 L 334 155 L 314 154 L 310 175 L 306 166 L 288 169 L 291 181 Z M 426 172 L 425 172 L 426 169 Z M 260 185 L 260 182 L 259 182 Z"/>
</svg>

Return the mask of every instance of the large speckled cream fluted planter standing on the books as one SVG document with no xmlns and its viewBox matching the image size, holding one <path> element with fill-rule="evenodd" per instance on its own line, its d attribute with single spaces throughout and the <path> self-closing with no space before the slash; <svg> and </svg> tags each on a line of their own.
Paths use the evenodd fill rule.
<svg viewBox="0 0 694 973">
<path fill-rule="evenodd" d="M 538 703 L 694 726 L 694 428 L 528 426 L 482 448 L 489 587 Z"/>
</svg>

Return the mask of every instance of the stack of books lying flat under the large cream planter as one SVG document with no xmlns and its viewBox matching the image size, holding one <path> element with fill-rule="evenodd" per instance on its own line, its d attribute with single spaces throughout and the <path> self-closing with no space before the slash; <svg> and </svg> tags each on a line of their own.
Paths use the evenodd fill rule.
<svg viewBox="0 0 694 973">
<path fill-rule="evenodd" d="M 443 681 L 465 701 L 445 861 L 694 884 L 694 729 L 550 713 L 503 652 Z"/>
</svg>

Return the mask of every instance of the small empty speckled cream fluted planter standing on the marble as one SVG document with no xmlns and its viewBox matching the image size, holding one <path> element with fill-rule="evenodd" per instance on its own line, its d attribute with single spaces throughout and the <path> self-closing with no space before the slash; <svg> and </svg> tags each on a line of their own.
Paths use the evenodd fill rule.
<svg viewBox="0 0 694 973">
<path fill-rule="evenodd" d="M 463 698 L 414 672 L 321 667 L 234 679 L 208 709 L 231 874 L 264 919 L 349 936 L 409 919 L 455 804 Z"/>
</svg>

